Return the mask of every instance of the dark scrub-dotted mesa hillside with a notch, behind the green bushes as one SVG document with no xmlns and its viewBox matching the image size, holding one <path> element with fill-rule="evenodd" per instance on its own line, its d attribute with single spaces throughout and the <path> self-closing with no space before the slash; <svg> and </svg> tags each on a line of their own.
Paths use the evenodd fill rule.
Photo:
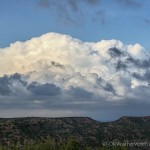
<svg viewBox="0 0 150 150">
<path fill-rule="evenodd" d="M 98 122 L 88 117 L 0 119 L 1 146 L 24 145 L 47 137 L 59 143 L 73 137 L 81 147 L 92 148 L 112 144 L 109 142 L 150 143 L 150 116 L 121 117 L 113 122 Z"/>
</svg>

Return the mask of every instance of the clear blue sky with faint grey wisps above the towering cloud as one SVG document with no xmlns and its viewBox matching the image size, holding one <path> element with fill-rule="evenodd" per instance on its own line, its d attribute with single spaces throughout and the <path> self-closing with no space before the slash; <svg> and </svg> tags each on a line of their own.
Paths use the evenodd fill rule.
<svg viewBox="0 0 150 150">
<path fill-rule="evenodd" d="M 117 39 L 150 49 L 149 0 L 2 0 L 0 47 L 48 32 Z"/>
</svg>

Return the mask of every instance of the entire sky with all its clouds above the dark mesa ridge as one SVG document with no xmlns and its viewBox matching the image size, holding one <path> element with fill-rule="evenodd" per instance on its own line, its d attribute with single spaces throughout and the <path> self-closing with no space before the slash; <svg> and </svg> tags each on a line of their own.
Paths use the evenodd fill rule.
<svg viewBox="0 0 150 150">
<path fill-rule="evenodd" d="M 150 115 L 149 7 L 0 1 L 0 117 Z"/>
</svg>

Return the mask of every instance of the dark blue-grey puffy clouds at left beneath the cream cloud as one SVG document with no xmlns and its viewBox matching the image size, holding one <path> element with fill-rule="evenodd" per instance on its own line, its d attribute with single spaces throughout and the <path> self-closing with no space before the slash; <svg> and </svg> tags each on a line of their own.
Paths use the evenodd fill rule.
<svg viewBox="0 0 150 150">
<path fill-rule="evenodd" d="M 18 73 L 10 76 L 5 75 L 0 77 L 1 95 L 15 95 L 18 91 L 15 91 L 14 89 L 20 88 L 17 86 L 22 86 L 22 90 L 33 93 L 34 96 L 54 96 L 59 95 L 61 92 L 61 89 L 54 84 L 40 84 L 38 82 L 28 83 L 27 81 L 23 80 L 21 75 Z"/>
</svg>

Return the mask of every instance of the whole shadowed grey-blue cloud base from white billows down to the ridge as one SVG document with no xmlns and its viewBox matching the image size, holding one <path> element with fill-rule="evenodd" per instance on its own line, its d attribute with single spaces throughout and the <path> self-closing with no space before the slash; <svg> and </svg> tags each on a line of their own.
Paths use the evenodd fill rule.
<svg viewBox="0 0 150 150">
<path fill-rule="evenodd" d="M 13 90 L 13 83 L 16 82 L 28 92 L 23 90 L 22 93 L 18 93 L 17 90 Z M 4 118 L 90 116 L 108 121 L 125 115 L 150 115 L 150 103 L 145 101 L 145 98 L 124 97 L 121 101 L 108 101 L 108 98 L 96 97 L 94 93 L 80 87 L 72 86 L 64 91 L 54 84 L 28 83 L 18 73 L 1 77 L 0 85 L 0 117 Z M 110 84 L 104 89 L 115 94 Z"/>
</svg>

